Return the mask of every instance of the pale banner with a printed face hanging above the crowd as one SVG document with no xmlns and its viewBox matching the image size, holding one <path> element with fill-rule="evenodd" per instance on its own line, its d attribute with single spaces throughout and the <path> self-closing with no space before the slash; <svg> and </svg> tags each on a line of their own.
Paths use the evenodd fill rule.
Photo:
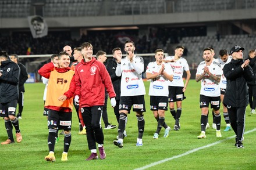
<svg viewBox="0 0 256 170">
<path fill-rule="evenodd" d="M 48 26 L 41 16 L 28 16 L 27 19 L 29 20 L 29 27 L 33 38 L 41 38 L 47 35 Z"/>
</svg>

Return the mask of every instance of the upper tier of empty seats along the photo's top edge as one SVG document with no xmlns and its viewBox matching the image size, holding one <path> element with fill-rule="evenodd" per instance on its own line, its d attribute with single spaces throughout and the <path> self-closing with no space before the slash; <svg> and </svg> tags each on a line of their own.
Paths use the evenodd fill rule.
<svg viewBox="0 0 256 170">
<path fill-rule="evenodd" d="M 27 17 L 31 0 L 1 0 L 0 17 Z M 45 17 L 149 15 L 255 8 L 254 0 L 45 0 Z"/>
</svg>

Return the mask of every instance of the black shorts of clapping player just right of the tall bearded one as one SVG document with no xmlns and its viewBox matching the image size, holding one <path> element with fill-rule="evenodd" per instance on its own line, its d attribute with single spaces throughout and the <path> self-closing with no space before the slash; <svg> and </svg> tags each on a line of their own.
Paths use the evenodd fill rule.
<svg viewBox="0 0 256 170">
<path fill-rule="evenodd" d="M 168 97 L 150 96 L 150 110 L 168 110 Z"/>
</svg>

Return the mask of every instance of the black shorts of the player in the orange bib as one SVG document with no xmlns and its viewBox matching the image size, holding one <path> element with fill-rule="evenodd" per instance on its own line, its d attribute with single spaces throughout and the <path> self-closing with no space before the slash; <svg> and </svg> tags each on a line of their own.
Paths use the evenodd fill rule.
<svg viewBox="0 0 256 170">
<path fill-rule="evenodd" d="M 49 109 L 48 112 L 48 129 L 71 130 L 72 112 L 56 111 Z"/>
</svg>

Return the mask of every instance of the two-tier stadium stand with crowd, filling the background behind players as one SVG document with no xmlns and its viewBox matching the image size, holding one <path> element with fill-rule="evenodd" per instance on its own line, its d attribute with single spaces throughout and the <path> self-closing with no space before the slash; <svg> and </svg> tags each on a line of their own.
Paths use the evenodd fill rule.
<svg viewBox="0 0 256 170">
<path fill-rule="evenodd" d="M 35 15 L 37 2 L 41 2 L 42 17 L 49 21 L 49 29 L 46 37 L 33 39 L 26 26 L 27 23 L 24 22 L 27 21 L 27 16 Z M 104 50 L 111 54 L 113 47 L 123 46 L 118 40 L 119 37 L 129 37 L 136 43 L 137 53 L 152 53 L 156 48 L 162 48 L 173 55 L 173 48 L 176 45 L 184 45 L 186 50 L 183 56 L 194 69 L 201 62 L 202 49 L 205 47 L 212 46 L 215 49 L 215 57 L 220 49 L 230 49 L 234 43 L 244 46 L 246 50 L 255 48 L 253 42 L 256 40 L 256 23 L 254 23 L 256 17 L 251 13 L 256 8 L 255 0 L 0 0 L 0 6 L 0 50 L 18 55 L 26 55 L 28 48 L 31 48 L 31 55 L 59 53 L 66 44 L 75 47 L 85 41 L 93 44 L 94 53 Z M 233 17 L 230 20 L 226 18 L 223 21 L 221 19 L 208 21 L 208 16 L 199 21 L 200 17 L 204 17 L 198 17 L 203 15 L 200 12 L 208 15 L 215 12 L 216 15 L 218 10 L 224 13 L 231 10 L 237 12 L 237 9 L 243 9 L 238 11 L 240 13 L 250 10 L 247 18 L 243 16 L 239 18 L 240 20 Z M 99 16 L 103 16 L 101 18 L 106 21 L 102 26 L 99 24 L 102 20 L 97 20 Z M 165 17 L 162 23 L 158 23 L 158 17 L 161 16 Z M 140 24 L 144 17 L 148 22 Z M 187 20 L 179 23 L 182 17 Z M 22 21 L 17 22 L 16 26 L 5 27 L 5 22 L 8 21 L 6 19 L 9 19 L 10 23 Z M 94 19 L 97 21 L 88 22 Z M 123 19 L 131 21 L 127 24 Z M 83 20 L 87 23 L 80 24 Z M 108 25 L 111 20 L 117 22 Z M 73 26 L 72 21 L 77 21 L 79 25 Z M 97 32 L 88 29 L 99 26 L 105 29 L 119 27 L 119 21 L 122 22 L 120 26 L 136 26 L 137 30 L 127 31 L 124 28 L 119 31 Z M 95 25 L 87 26 L 88 23 Z M 86 35 L 82 35 L 82 30 L 86 30 Z M 217 30 L 220 32 L 216 32 Z M 219 34 L 219 38 L 216 34 Z M 31 58 L 24 60 L 31 63 L 40 62 Z"/>
</svg>

